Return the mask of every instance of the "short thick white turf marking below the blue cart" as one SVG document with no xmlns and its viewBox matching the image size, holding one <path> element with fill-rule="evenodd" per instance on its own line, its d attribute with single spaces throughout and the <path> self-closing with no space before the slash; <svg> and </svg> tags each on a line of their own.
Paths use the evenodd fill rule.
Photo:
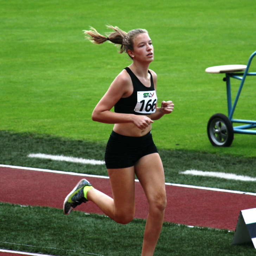
<svg viewBox="0 0 256 256">
<path fill-rule="evenodd" d="M 225 173 L 225 172 L 205 172 L 205 171 L 197 171 L 197 170 L 187 170 L 179 173 L 186 174 L 186 175 L 194 175 L 194 176 L 222 178 L 227 180 L 256 181 L 256 178 L 252 178 L 244 175 L 236 175 L 234 173 Z"/>
</svg>

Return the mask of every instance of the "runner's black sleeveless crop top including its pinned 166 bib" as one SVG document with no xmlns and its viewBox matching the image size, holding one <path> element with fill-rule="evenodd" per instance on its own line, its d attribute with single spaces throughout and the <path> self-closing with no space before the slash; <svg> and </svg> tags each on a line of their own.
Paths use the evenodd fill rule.
<svg viewBox="0 0 256 256">
<path fill-rule="evenodd" d="M 140 82 L 139 78 L 134 75 L 132 70 L 128 67 L 125 68 L 125 70 L 132 79 L 133 93 L 127 98 L 121 98 L 115 104 L 115 112 L 135 115 L 148 115 L 154 113 L 157 97 L 151 72 L 148 71 L 151 77 L 151 86 L 146 87 Z"/>
</svg>

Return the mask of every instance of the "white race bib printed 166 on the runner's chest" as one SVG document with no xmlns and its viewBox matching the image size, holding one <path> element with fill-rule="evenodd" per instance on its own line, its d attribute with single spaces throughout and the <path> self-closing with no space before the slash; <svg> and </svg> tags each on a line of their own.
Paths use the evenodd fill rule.
<svg viewBox="0 0 256 256">
<path fill-rule="evenodd" d="M 155 91 L 138 91 L 137 104 L 134 111 L 141 114 L 152 114 L 155 112 L 157 102 Z"/>
</svg>

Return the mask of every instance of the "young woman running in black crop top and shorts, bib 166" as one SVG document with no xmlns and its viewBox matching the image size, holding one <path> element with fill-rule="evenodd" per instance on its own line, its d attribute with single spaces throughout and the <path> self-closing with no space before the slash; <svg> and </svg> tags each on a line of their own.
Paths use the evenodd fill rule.
<svg viewBox="0 0 256 256">
<path fill-rule="evenodd" d="M 162 161 L 152 139 L 154 120 L 173 111 L 172 101 L 162 101 L 157 107 L 156 73 L 149 69 L 154 48 L 146 30 L 126 33 L 108 26 L 114 32 L 102 36 L 94 28 L 84 31 L 96 44 L 110 41 L 121 45 L 132 64 L 114 79 L 108 91 L 96 105 L 92 120 L 114 124 L 105 151 L 113 198 L 82 179 L 68 194 L 63 209 L 69 214 L 82 202 L 92 201 L 117 223 L 127 224 L 135 215 L 135 174 L 145 192 L 149 211 L 142 245 L 142 256 L 154 254 L 162 229 L 166 207 L 165 175 Z M 114 107 L 115 112 L 110 111 Z"/>
</svg>

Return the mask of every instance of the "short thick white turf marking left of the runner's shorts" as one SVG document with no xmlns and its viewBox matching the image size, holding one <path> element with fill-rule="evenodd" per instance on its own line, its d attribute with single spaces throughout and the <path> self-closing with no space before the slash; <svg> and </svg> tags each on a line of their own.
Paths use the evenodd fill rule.
<svg viewBox="0 0 256 256">
<path fill-rule="evenodd" d="M 94 160 L 94 159 L 83 159 L 72 156 L 64 156 L 64 155 L 47 155 L 47 154 L 29 154 L 30 158 L 41 158 L 41 159 L 50 159 L 56 161 L 65 161 L 65 162 L 73 162 L 79 164 L 90 164 L 90 165 L 104 165 L 105 161 Z"/>
</svg>

